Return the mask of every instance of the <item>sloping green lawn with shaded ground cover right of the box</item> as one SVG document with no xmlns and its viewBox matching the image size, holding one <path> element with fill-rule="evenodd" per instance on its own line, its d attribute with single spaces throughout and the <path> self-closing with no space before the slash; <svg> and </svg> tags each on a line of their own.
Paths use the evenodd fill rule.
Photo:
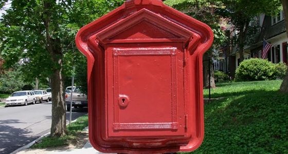
<svg viewBox="0 0 288 154">
<path fill-rule="evenodd" d="M 288 153 L 288 95 L 282 81 L 221 83 L 205 104 L 205 137 L 193 153 Z M 208 89 L 204 90 L 208 98 Z"/>
</svg>

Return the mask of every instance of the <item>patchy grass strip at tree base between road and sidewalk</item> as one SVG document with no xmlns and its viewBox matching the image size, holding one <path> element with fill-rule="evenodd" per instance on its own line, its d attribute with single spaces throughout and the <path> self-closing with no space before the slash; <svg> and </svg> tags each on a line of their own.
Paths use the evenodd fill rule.
<svg viewBox="0 0 288 154">
<path fill-rule="evenodd" d="M 68 135 L 60 138 L 46 137 L 30 148 L 47 148 L 68 145 L 70 141 L 77 140 L 77 134 L 88 126 L 88 115 L 83 115 L 76 122 L 67 125 Z"/>
</svg>

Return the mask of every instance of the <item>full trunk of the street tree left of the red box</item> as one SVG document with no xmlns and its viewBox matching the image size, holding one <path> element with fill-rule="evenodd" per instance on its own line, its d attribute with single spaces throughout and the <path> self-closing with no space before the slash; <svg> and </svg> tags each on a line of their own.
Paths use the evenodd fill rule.
<svg viewBox="0 0 288 154">
<path fill-rule="evenodd" d="M 50 10 L 57 9 L 56 1 L 43 1 L 43 24 L 46 33 L 46 49 L 51 56 L 51 62 L 54 65 L 51 76 L 51 94 L 52 94 L 52 122 L 51 122 L 51 136 L 61 137 L 67 134 L 66 128 L 66 103 L 64 94 L 64 83 L 62 76 L 63 68 L 63 53 L 61 48 L 61 39 L 53 37 L 52 33 L 59 32 L 59 23 L 57 20 L 51 18 L 57 16 L 52 14 Z M 57 17 L 56 17 L 57 18 Z"/>
</svg>

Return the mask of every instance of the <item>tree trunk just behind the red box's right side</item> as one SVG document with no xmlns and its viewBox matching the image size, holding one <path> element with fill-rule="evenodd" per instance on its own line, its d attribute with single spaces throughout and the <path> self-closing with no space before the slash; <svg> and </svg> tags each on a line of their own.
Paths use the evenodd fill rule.
<svg viewBox="0 0 288 154">
<path fill-rule="evenodd" d="M 204 80 L 204 87 L 209 88 L 209 82 L 210 87 L 215 88 L 215 81 L 214 81 L 214 71 L 213 71 L 213 63 L 212 63 L 212 57 L 209 56 L 209 53 L 205 53 L 203 56 L 203 80 Z M 209 81 L 209 61 L 210 61 L 210 81 Z"/>
</svg>

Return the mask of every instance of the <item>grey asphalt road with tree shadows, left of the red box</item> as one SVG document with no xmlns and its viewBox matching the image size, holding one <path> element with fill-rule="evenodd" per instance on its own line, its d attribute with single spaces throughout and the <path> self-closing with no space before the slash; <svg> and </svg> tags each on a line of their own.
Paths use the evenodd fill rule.
<svg viewBox="0 0 288 154">
<path fill-rule="evenodd" d="M 72 120 L 87 113 L 87 108 L 72 110 Z M 77 112 L 75 112 L 77 111 Z M 66 112 L 69 122 L 69 112 Z M 50 132 L 51 102 L 0 108 L 0 154 L 14 150 Z"/>
</svg>

